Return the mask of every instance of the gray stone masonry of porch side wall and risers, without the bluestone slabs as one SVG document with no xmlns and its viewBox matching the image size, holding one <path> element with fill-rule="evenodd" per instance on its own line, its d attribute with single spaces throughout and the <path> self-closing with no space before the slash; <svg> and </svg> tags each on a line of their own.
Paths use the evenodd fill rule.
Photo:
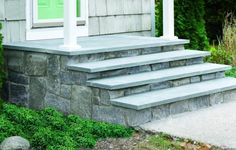
<svg viewBox="0 0 236 150">
<path fill-rule="evenodd" d="M 182 48 L 183 46 L 163 47 L 160 48 L 160 52 Z M 66 68 L 66 65 L 70 61 L 90 62 L 152 52 L 152 49 L 138 49 L 116 53 L 64 56 L 57 54 L 6 50 L 5 58 L 7 58 L 6 67 L 8 68 L 8 81 L 5 84 L 5 97 L 10 102 L 34 109 L 54 107 L 66 114 L 73 113 L 85 118 L 129 126 L 137 126 L 151 120 L 209 107 L 234 99 L 233 97 L 236 93 L 235 90 L 183 100 L 140 111 L 114 107 L 110 104 L 110 98 L 221 78 L 224 77 L 224 73 L 219 72 L 216 74 L 173 80 L 167 84 L 161 83 L 110 91 L 87 87 L 85 82 L 87 79 L 115 76 L 124 72 L 137 73 L 142 71 L 151 71 L 153 69 L 162 69 L 163 67 L 166 67 L 166 64 L 159 64 L 159 67 L 157 67 L 158 65 L 145 67 L 140 66 L 140 68 L 124 69 L 117 72 L 110 71 L 102 74 L 74 72 L 69 71 Z M 191 61 L 185 60 L 172 62 L 167 67 L 191 65 L 201 62 L 202 59 L 196 58 Z M 173 66 L 171 64 L 175 65 Z"/>
</svg>

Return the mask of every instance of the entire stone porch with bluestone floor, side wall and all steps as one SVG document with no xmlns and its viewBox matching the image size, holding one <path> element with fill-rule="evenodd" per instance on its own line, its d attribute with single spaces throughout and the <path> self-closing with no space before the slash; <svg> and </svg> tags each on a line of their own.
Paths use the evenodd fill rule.
<svg viewBox="0 0 236 150">
<path fill-rule="evenodd" d="M 10 102 L 138 126 L 152 120 L 235 100 L 227 65 L 204 63 L 206 51 L 188 40 L 110 35 L 5 44 Z M 61 43 L 61 44 L 60 44 Z"/>
</svg>

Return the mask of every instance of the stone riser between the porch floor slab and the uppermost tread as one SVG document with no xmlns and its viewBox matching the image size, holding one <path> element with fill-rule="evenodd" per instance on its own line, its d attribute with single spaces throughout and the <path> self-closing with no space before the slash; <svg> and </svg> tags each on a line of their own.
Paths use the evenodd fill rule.
<svg viewBox="0 0 236 150">
<path fill-rule="evenodd" d="M 68 59 L 70 62 L 73 62 L 73 63 L 86 63 L 86 62 L 95 62 L 95 61 L 102 61 L 102 60 L 108 60 L 108 59 L 114 59 L 114 58 L 132 57 L 132 56 L 138 56 L 138 55 L 176 51 L 176 50 L 184 50 L 184 45 L 150 47 L 150 48 L 141 48 L 141 49 L 132 49 L 132 50 L 127 49 L 127 50 L 115 51 L 115 52 L 70 56 L 65 59 Z"/>
</svg>

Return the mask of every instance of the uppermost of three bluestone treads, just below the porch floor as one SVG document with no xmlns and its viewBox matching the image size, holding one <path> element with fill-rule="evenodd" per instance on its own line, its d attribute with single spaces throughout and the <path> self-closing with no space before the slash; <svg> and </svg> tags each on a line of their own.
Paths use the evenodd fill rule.
<svg viewBox="0 0 236 150">
<path fill-rule="evenodd" d="M 208 55 L 210 55 L 210 53 L 205 51 L 179 50 L 179 51 L 162 52 L 148 55 L 139 55 L 133 57 L 109 59 L 109 60 L 89 62 L 89 63 L 75 63 L 75 64 L 72 63 L 68 65 L 68 69 L 93 73 L 93 72 L 115 70 L 115 69 L 134 67 L 140 65 L 205 57 Z"/>
</svg>

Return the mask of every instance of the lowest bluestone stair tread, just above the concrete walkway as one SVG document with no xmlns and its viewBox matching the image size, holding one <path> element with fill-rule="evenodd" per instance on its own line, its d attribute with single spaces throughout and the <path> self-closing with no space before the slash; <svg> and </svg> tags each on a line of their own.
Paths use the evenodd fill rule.
<svg viewBox="0 0 236 150">
<path fill-rule="evenodd" d="M 112 99 L 113 105 L 141 110 L 185 99 L 236 89 L 235 78 L 221 78 Z"/>
</svg>

